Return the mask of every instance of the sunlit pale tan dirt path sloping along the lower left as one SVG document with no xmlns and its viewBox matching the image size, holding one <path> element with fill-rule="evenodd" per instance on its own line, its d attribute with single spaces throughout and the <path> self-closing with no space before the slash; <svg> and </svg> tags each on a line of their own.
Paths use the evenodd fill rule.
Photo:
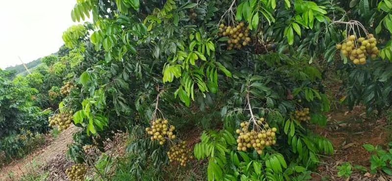
<svg viewBox="0 0 392 181">
<path fill-rule="evenodd" d="M 45 165 L 54 160 L 59 153 L 67 151 L 67 145 L 73 142 L 73 133 L 79 128 L 72 126 L 63 131 L 59 136 L 51 141 L 46 147 L 35 151 L 26 158 L 15 160 L 0 170 L 0 181 L 17 180 L 27 173 L 33 164 Z M 12 175 L 12 179 L 9 177 Z"/>
</svg>

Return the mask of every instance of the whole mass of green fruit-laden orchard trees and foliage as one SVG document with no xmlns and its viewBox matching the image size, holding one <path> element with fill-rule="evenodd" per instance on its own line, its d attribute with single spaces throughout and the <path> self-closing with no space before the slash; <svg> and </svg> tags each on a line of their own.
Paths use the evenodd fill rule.
<svg viewBox="0 0 392 181">
<path fill-rule="evenodd" d="M 77 0 L 71 18 L 91 23 L 67 29 L 30 74 L 0 70 L 0 160 L 76 126 L 72 181 L 312 180 L 335 153 L 316 132 L 331 107 L 380 117 L 392 105 L 391 10 L 392 0 Z M 341 97 L 328 94 L 330 72 Z M 119 133 L 115 157 L 107 143 Z M 369 172 L 392 175 L 389 148 L 364 148 Z M 349 178 L 354 166 L 338 169 Z"/>
</svg>

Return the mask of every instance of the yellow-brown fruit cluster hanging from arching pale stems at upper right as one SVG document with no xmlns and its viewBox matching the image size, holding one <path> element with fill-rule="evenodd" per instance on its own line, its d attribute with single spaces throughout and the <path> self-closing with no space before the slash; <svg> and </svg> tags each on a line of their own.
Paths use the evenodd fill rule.
<svg viewBox="0 0 392 181">
<path fill-rule="evenodd" d="M 341 53 L 355 65 L 364 65 L 368 55 L 372 59 L 377 57 L 379 50 L 376 45 L 377 40 L 373 34 L 368 34 L 367 38 L 358 39 L 355 35 L 350 35 L 342 45 L 336 45 L 336 48 L 341 50 Z"/>
</svg>

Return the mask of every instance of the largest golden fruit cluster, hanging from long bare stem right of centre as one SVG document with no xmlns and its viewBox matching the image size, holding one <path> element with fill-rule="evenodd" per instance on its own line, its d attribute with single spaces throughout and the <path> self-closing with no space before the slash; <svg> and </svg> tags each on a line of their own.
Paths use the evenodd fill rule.
<svg viewBox="0 0 392 181">
<path fill-rule="evenodd" d="M 260 118 L 255 123 L 255 127 L 249 132 L 248 128 L 253 124 L 244 121 L 241 123 L 241 130 L 236 130 L 239 134 L 237 139 L 237 150 L 246 151 L 249 148 L 254 148 L 259 155 L 263 153 L 266 146 L 276 144 L 276 128 L 270 128 L 267 123 L 264 124 L 265 119 Z"/>
</svg>

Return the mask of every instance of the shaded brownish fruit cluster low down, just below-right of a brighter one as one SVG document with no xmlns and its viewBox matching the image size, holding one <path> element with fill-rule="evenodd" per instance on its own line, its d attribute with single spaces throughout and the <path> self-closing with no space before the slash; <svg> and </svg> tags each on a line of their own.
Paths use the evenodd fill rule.
<svg viewBox="0 0 392 181">
<path fill-rule="evenodd" d="M 170 151 L 168 152 L 170 162 L 178 161 L 181 166 L 186 166 L 187 161 L 193 159 L 193 156 L 191 155 L 192 151 L 187 148 L 186 144 L 186 141 L 182 141 L 178 144 L 174 144 L 170 148 Z"/>
</svg>

